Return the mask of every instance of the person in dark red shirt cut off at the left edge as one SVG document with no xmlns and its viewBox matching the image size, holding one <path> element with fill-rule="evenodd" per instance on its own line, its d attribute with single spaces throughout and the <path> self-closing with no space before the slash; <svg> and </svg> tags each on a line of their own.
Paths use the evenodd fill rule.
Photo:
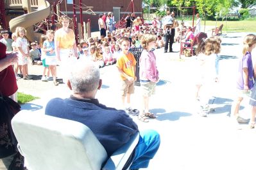
<svg viewBox="0 0 256 170">
<path fill-rule="evenodd" d="M 15 53 L 6 55 L 6 46 L 0 42 L 0 158 L 6 169 L 23 170 L 24 157 L 17 150 L 11 119 L 19 112 L 21 106 L 17 104 L 15 96 L 18 87 L 12 65 L 18 57 Z M 14 94 L 14 95 L 13 95 Z M 10 98 L 8 98 L 10 96 Z M 19 162 L 19 163 L 18 163 Z"/>
</svg>

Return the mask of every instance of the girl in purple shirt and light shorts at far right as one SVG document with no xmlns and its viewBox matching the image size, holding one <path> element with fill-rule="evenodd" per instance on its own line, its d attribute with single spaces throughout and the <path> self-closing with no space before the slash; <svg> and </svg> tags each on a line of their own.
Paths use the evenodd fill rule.
<svg viewBox="0 0 256 170">
<path fill-rule="evenodd" d="M 243 57 L 239 60 L 238 76 L 237 76 L 237 98 L 234 100 L 231 109 L 232 117 L 235 117 L 238 123 L 248 123 L 247 119 L 244 119 L 239 115 L 239 107 L 243 98 L 248 99 L 250 91 L 253 88 L 253 64 L 252 64 L 252 49 L 255 47 L 256 38 L 255 35 L 249 34 L 244 38 Z M 254 97 L 254 95 L 253 95 Z M 250 102 L 254 105 L 255 102 Z M 256 105 L 255 105 L 256 106 Z M 253 114 L 252 114 L 253 115 Z M 252 124 L 253 124 L 252 119 Z"/>
</svg>

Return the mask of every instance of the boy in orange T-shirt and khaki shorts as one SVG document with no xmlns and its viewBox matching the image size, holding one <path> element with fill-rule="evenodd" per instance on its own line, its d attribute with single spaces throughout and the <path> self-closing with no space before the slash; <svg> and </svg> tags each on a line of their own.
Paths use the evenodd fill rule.
<svg viewBox="0 0 256 170">
<path fill-rule="evenodd" d="M 130 48 L 130 40 L 128 37 L 120 38 L 119 44 L 122 54 L 119 56 L 119 58 L 117 58 L 116 66 L 121 76 L 121 96 L 123 108 L 125 108 L 125 111 L 128 112 L 128 114 L 138 114 L 138 110 L 132 109 L 130 106 L 131 94 L 134 93 L 135 89 L 134 80 L 136 60 L 133 54 L 128 52 Z"/>
</svg>

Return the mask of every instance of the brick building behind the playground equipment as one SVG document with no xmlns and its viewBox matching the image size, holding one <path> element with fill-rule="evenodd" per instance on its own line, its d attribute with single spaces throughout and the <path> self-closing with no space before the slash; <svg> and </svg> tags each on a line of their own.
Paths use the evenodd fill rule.
<svg viewBox="0 0 256 170">
<path fill-rule="evenodd" d="M 13 3 L 21 4 L 24 0 L 1 0 L 0 3 L 0 24 L 3 28 L 4 23 L 8 28 L 10 19 L 13 19 L 19 15 L 24 14 L 24 10 L 21 5 L 12 6 Z M 37 8 L 37 2 L 40 0 L 30 0 L 31 7 Z M 57 3 L 57 0 L 46 0 L 49 4 Z M 75 2 L 73 5 L 73 1 Z M 67 13 L 69 17 L 73 19 L 73 6 L 76 8 L 76 18 L 80 22 L 80 0 L 60 0 L 60 10 L 63 13 Z M 82 6 L 92 6 L 92 11 L 96 15 L 91 15 L 85 12 L 86 8 L 83 9 L 83 22 L 87 22 L 90 19 L 92 24 L 92 31 L 98 31 L 98 16 L 100 13 L 113 12 L 115 21 L 118 22 L 124 15 L 132 12 L 132 0 L 81 0 Z M 142 15 L 142 0 L 133 0 L 133 9 L 136 16 Z M 3 22 L 4 21 L 4 22 Z"/>
</svg>

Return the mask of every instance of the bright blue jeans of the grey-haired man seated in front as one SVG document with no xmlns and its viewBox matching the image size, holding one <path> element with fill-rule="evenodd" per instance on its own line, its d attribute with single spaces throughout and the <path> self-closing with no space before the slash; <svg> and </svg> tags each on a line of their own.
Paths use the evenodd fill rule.
<svg viewBox="0 0 256 170">
<path fill-rule="evenodd" d="M 155 130 L 140 132 L 139 142 L 135 147 L 135 156 L 130 169 L 148 167 L 149 160 L 155 156 L 160 146 L 160 135 Z"/>
</svg>

